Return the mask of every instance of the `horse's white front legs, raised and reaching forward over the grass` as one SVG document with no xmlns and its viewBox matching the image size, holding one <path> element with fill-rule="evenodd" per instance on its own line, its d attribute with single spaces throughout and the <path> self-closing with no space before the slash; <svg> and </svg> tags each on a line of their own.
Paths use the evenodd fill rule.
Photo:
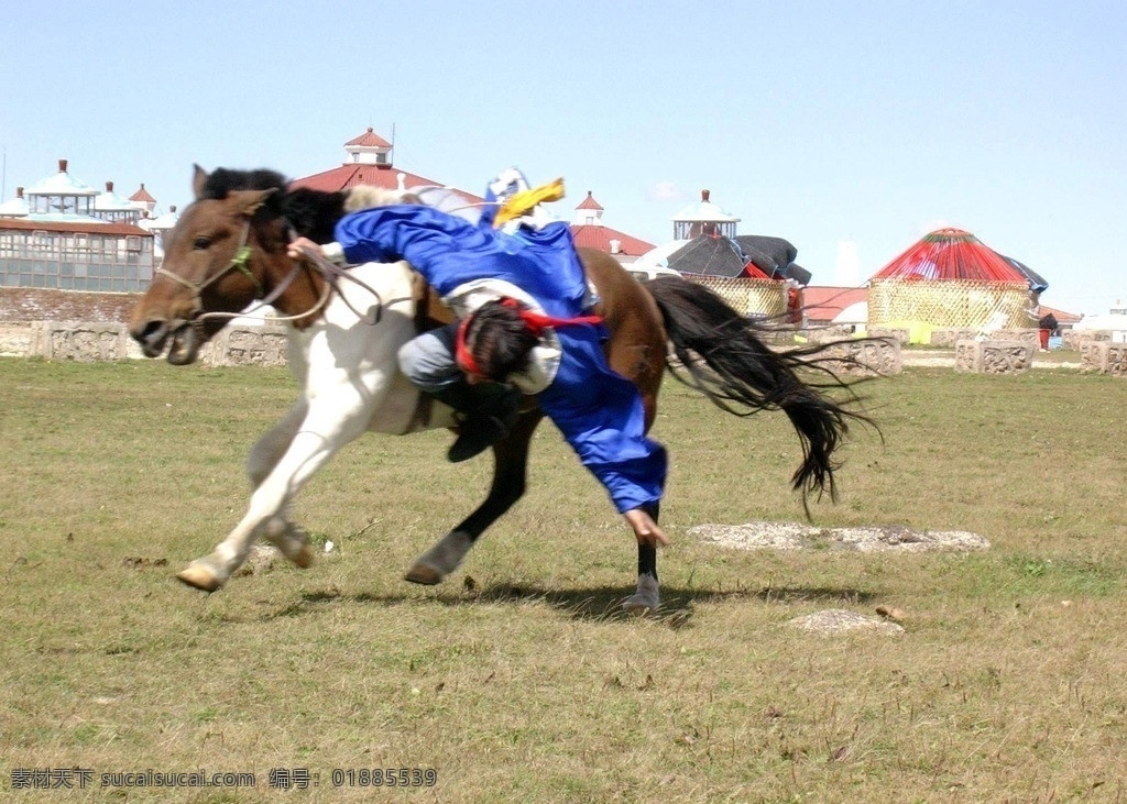
<svg viewBox="0 0 1127 804">
<path fill-rule="evenodd" d="M 266 535 L 275 544 L 289 542 L 289 552 L 283 544 L 279 546 L 299 565 L 304 562 L 308 566 L 312 562 L 308 539 L 302 538 L 303 534 L 290 526 L 285 520 L 285 511 L 312 474 L 340 447 L 364 432 L 371 419 L 373 397 L 370 394 L 357 393 L 356 388 L 350 387 L 338 391 L 339 393 L 325 393 L 322 390 L 309 404 L 309 410 L 296 425 L 296 432 L 281 458 L 250 495 L 246 515 L 211 554 L 196 559 L 177 574 L 180 581 L 207 592 L 218 591 L 246 562 L 250 547 L 259 535 Z M 284 429 L 281 428 L 291 425 L 287 417 L 269 435 L 284 435 Z M 268 448 L 263 446 L 263 450 L 260 455 L 267 456 Z M 267 463 L 268 461 L 259 467 Z M 254 482 L 255 467 L 249 471 Z"/>
</svg>

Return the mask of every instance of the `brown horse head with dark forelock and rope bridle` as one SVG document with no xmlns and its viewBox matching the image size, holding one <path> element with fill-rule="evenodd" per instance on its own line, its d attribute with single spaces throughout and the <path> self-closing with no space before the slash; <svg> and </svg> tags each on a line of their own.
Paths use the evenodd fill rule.
<svg viewBox="0 0 1127 804">
<path fill-rule="evenodd" d="M 272 171 L 207 173 L 195 166 L 189 204 L 163 238 L 165 258 L 133 309 L 130 334 L 147 357 L 168 348 L 168 361 L 194 361 L 199 349 L 256 298 L 272 271 L 289 270 L 286 226 Z"/>
</svg>

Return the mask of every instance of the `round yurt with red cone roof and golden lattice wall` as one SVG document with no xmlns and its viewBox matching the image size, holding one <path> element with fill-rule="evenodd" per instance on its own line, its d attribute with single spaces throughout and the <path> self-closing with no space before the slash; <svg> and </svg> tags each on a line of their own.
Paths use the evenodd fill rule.
<svg viewBox="0 0 1127 804">
<path fill-rule="evenodd" d="M 1031 293 L 1046 284 L 1015 263 L 961 229 L 930 232 L 869 279 L 869 325 L 1031 327 Z"/>
</svg>

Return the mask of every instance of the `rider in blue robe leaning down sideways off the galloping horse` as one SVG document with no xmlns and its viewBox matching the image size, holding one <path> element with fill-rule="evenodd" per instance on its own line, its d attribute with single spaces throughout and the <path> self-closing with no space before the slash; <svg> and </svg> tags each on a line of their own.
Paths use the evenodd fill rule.
<svg viewBox="0 0 1127 804">
<path fill-rule="evenodd" d="M 591 312 L 594 293 L 570 229 L 538 207 L 561 196 L 561 182 L 530 190 L 508 170 L 489 185 L 479 215 L 421 204 L 362 209 L 336 225 L 336 242 L 299 238 L 290 254 L 314 249 L 349 265 L 402 259 L 419 271 L 456 320 L 409 341 L 399 363 L 418 387 L 464 416 L 450 459 L 504 438 L 521 395 L 536 394 L 635 533 L 639 580 L 630 607 L 655 608 L 656 548 L 668 544 L 657 525 L 666 453 L 646 435 L 637 386 L 607 365 L 606 328 Z M 443 572 L 456 569 L 442 555 L 432 560 Z"/>
</svg>

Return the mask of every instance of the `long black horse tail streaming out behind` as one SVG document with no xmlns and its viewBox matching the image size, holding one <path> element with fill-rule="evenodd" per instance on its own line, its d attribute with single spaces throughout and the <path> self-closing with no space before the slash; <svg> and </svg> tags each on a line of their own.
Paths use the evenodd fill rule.
<svg viewBox="0 0 1127 804">
<path fill-rule="evenodd" d="M 681 277 L 657 277 L 645 287 L 662 311 L 676 356 L 667 357 L 671 374 L 736 416 L 782 410 L 802 444 L 802 463 L 791 480 L 793 489 L 802 493 L 804 507 L 809 492 L 819 497 L 828 492 L 836 500 L 834 472 L 841 464 L 834 453 L 849 432 L 850 421 L 876 427 L 871 419 L 848 410 L 826 393 L 845 390 L 857 402 L 850 383 L 831 365 L 858 361 L 827 355 L 833 343 L 775 351 L 763 340 L 766 327 L 740 315 L 703 285 Z"/>
</svg>

